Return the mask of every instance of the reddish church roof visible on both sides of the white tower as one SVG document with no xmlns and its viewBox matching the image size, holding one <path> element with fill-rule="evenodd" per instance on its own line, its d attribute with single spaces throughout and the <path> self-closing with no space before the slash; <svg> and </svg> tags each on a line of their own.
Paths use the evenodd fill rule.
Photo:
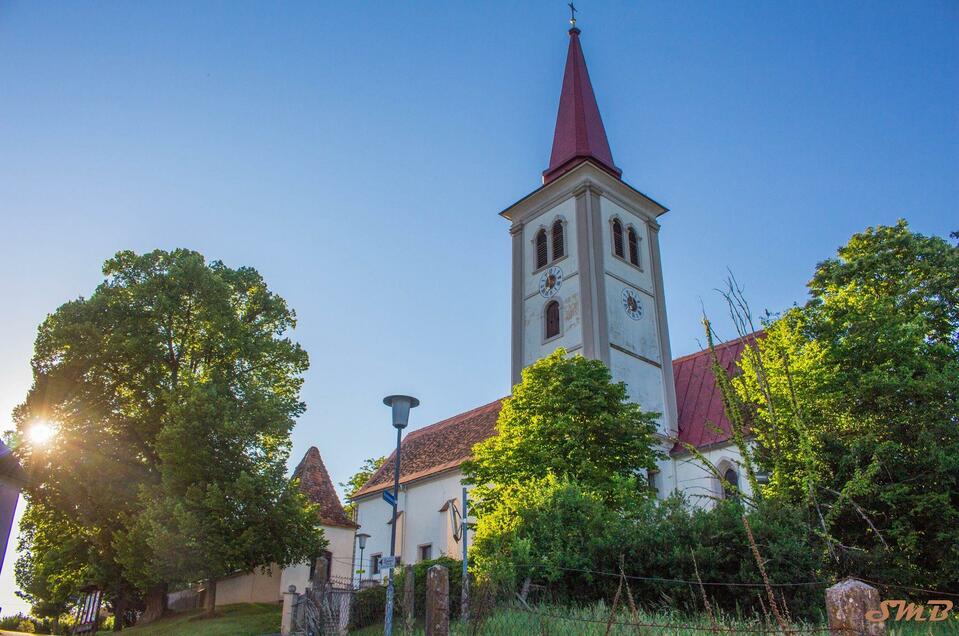
<svg viewBox="0 0 959 636">
<path fill-rule="evenodd" d="M 746 337 L 754 342 L 756 334 Z M 733 373 L 744 348 L 742 340 L 716 346 L 716 355 L 727 372 Z M 729 440 L 729 420 L 722 397 L 712 375 L 709 351 L 673 360 L 676 381 L 679 440 L 697 448 Z M 503 398 L 505 399 L 505 398 Z M 473 445 L 496 434 L 496 419 L 503 399 L 460 413 L 449 419 L 415 430 L 403 439 L 400 483 L 430 477 L 457 468 L 472 455 Z M 717 430 L 718 429 L 718 430 Z M 673 451 L 681 451 L 677 443 Z M 392 453 L 354 498 L 362 498 L 390 488 L 393 484 Z"/>
</svg>

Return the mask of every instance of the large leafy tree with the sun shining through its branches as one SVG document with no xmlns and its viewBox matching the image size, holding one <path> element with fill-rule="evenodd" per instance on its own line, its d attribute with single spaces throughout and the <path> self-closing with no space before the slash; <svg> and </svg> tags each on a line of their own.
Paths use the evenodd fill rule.
<svg viewBox="0 0 959 636">
<path fill-rule="evenodd" d="M 37 540 L 59 534 L 77 536 L 70 558 L 86 554 L 74 587 L 119 606 L 306 558 L 322 536 L 283 478 L 308 364 L 292 310 L 255 270 L 188 250 L 120 252 L 103 272 L 41 325 L 14 414 L 35 520 L 24 580 L 70 580 Z M 57 428 L 44 445 L 29 441 L 38 421 Z"/>
</svg>

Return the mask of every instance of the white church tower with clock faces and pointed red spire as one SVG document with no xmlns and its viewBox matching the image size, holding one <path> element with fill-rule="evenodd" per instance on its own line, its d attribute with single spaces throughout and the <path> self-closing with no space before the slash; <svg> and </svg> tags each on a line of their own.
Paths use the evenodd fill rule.
<svg viewBox="0 0 959 636">
<path fill-rule="evenodd" d="M 558 347 L 602 360 L 630 399 L 676 435 L 659 257 L 662 205 L 613 163 L 580 30 L 569 52 L 543 185 L 501 215 L 513 239 L 512 379 Z"/>
</svg>

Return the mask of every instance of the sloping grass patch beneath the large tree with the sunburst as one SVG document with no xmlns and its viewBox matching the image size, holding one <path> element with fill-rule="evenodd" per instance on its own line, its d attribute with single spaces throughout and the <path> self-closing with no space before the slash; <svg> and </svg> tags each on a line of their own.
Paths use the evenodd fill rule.
<svg viewBox="0 0 959 636">
<path fill-rule="evenodd" d="M 263 636 L 280 633 L 280 606 L 274 603 L 242 603 L 217 608 L 215 618 L 204 618 L 203 610 L 174 614 L 144 625 L 123 630 L 130 636 Z M 98 632 L 109 636 L 113 632 Z"/>
</svg>

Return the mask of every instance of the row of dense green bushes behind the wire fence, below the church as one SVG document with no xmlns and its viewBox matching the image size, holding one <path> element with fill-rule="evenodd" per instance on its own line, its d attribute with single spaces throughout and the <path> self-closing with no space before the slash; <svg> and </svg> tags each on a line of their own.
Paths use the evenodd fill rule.
<svg viewBox="0 0 959 636">
<path fill-rule="evenodd" d="M 549 477 L 515 486 L 497 509 L 482 517 L 471 559 L 477 578 L 512 595 L 528 577 L 542 596 L 535 600 L 587 604 L 611 602 L 622 564 L 637 602 L 701 611 L 693 558 L 714 606 L 761 612 L 761 583 L 742 523 L 744 509 L 719 502 L 693 509 L 679 496 L 607 506 L 576 482 Z M 764 506 L 747 512 L 773 583 L 820 578 L 822 552 L 798 514 Z M 777 588 L 793 616 L 821 606 L 819 586 Z M 762 602 L 766 602 L 762 599 Z"/>
</svg>

